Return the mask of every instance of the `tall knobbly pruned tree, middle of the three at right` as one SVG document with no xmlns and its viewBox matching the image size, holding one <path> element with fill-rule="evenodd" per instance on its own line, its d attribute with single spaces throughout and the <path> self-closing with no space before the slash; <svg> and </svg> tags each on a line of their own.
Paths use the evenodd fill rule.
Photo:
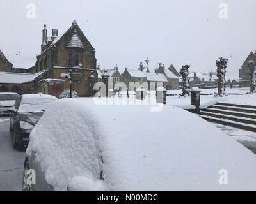
<svg viewBox="0 0 256 204">
<path fill-rule="evenodd" d="M 225 96 L 225 84 L 226 84 L 226 68 L 228 64 L 228 59 L 220 57 L 219 60 L 216 61 L 217 66 L 217 77 L 219 78 L 218 82 L 218 96 Z"/>
</svg>

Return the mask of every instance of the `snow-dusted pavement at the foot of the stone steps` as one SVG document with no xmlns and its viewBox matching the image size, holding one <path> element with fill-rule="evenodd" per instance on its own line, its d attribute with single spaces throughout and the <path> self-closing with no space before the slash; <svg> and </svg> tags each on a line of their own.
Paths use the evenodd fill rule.
<svg viewBox="0 0 256 204">
<path fill-rule="evenodd" d="M 213 124 L 256 154 L 256 133 L 221 124 Z"/>
</svg>

